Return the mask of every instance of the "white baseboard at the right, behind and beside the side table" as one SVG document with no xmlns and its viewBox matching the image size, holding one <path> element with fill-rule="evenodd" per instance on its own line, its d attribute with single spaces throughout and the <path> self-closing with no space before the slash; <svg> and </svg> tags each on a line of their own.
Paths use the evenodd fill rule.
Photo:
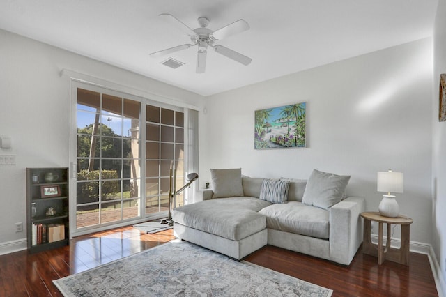
<svg viewBox="0 0 446 297">
<path fill-rule="evenodd" d="M 371 234 L 371 241 L 373 243 L 378 243 L 378 235 Z M 384 237 L 385 240 L 385 237 Z M 400 238 L 392 238 L 392 248 L 399 248 L 401 245 Z M 431 270 L 433 275 L 433 280 L 438 291 L 438 297 L 446 297 L 446 284 L 445 278 L 443 277 L 443 272 L 441 271 L 440 265 L 438 264 L 435 252 L 433 252 L 432 245 L 429 243 L 419 243 L 417 241 L 410 241 L 409 246 L 410 252 L 417 252 L 419 254 L 426 254 L 429 258 L 429 264 L 431 264 Z"/>
</svg>

